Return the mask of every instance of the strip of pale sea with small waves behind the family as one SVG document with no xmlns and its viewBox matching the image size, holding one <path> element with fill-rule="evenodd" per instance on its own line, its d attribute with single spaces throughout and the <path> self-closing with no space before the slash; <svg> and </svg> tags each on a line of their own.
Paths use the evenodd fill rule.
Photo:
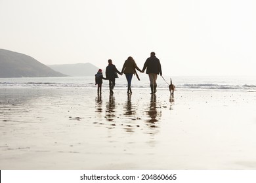
<svg viewBox="0 0 256 183">
<path fill-rule="evenodd" d="M 173 82 L 177 90 L 242 90 L 256 92 L 256 76 L 158 76 L 158 88 L 168 88 Z M 140 80 L 133 76 L 132 87 L 141 90 L 150 85 L 147 75 Z M 96 88 L 95 76 L 0 78 L 0 88 Z M 108 88 L 103 80 L 102 88 Z M 125 76 L 116 78 L 116 88 L 127 88 Z"/>
</svg>

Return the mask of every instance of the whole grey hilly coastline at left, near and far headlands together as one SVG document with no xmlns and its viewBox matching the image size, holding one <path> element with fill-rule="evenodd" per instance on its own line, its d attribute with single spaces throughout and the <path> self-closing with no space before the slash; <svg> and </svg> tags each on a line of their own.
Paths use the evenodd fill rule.
<svg viewBox="0 0 256 183">
<path fill-rule="evenodd" d="M 0 78 L 94 76 L 91 63 L 44 65 L 31 56 L 0 49 Z"/>
</svg>

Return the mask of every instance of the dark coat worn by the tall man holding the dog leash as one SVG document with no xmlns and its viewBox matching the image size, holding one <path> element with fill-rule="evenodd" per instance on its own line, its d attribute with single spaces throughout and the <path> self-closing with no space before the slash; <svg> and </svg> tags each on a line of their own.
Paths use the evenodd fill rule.
<svg viewBox="0 0 256 183">
<path fill-rule="evenodd" d="M 151 56 L 150 58 L 146 59 L 146 62 L 144 63 L 144 67 L 142 69 L 142 72 L 144 72 L 146 69 L 146 74 L 160 74 L 161 73 L 161 63 L 156 56 Z"/>
</svg>

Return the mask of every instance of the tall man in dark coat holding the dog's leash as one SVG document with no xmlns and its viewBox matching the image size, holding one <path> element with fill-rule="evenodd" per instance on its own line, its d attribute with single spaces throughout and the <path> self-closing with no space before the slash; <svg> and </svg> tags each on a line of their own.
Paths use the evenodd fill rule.
<svg viewBox="0 0 256 183">
<path fill-rule="evenodd" d="M 158 84 L 156 83 L 156 79 L 158 78 L 158 75 L 162 75 L 161 73 L 161 63 L 158 58 L 156 58 L 155 52 L 150 53 L 150 58 L 146 59 L 144 63 L 144 67 L 142 69 L 142 73 L 144 73 L 146 69 L 146 74 L 148 74 L 150 78 L 150 88 L 151 88 L 151 93 L 154 94 L 156 93 L 156 87 Z"/>
</svg>

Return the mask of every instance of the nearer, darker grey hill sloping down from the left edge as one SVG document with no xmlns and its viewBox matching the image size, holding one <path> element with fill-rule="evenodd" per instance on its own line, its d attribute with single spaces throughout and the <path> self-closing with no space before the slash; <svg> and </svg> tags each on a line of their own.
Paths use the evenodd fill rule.
<svg viewBox="0 0 256 183">
<path fill-rule="evenodd" d="M 66 75 L 25 54 L 0 49 L 0 78 L 60 76 Z"/>
</svg>

